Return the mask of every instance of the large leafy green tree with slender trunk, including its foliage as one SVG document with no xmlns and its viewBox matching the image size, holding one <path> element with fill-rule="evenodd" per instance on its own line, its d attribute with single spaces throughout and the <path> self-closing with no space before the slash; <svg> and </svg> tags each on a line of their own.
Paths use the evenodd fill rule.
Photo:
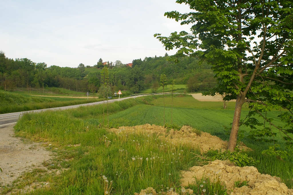
<svg viewBox="0 0 293 195">
<path fill-rule="evenodd" d="M 207 94 L 225 93 L 229 94 L 226 100 L 236 99 L 228 149 L 233 151 L 236 146 L 241 109 L 246 102 L 259 113 L 273 108 L 287 109 L 289 118 L 283 118 L 288 126 L 279 130 L 292 143 L 288 133 L 293 132 L 293 1 L 176 2 L 188 4 L 193 11 L 184 14 L 171 11 L 165 16 L 181 21 L 181 25 L 191 24 L 191 33 L 182 31 L 169 37 L 161 34 L 155 37 L 166 50 L 178 49 L 171 57 L 175 62 L 189 55 L 212 65 L 218 84 Z M 265 120 L 271 124 L 271 120 Z"/>
</svg>

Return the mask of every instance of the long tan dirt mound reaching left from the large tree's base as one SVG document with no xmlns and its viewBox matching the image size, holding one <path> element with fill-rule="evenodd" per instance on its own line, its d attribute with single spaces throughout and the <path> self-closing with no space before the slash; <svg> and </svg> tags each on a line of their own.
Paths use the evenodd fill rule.
<svg viewBox="0 0 293 195">
<path fill-rule="evenodd" d="M 227 148 L 227 142 L 221 140 L 217 136 L 213 136 L 209 133 L 200 132 L 190 126 L 183 126 L 180 130 L 167 130 L 162 126 L 156 125 L 138 125 L 133 127 L 119 127 L 118 129 L 110 129 L 115 133 L 142 133 L 142 134 L 156 134 L 161 140 L 169 140 L 175 144 L 190 144 L 194 148 L 200 147 L 201 152 L 207 152 L 208 150 L 225 150 Z"/>
</svg>

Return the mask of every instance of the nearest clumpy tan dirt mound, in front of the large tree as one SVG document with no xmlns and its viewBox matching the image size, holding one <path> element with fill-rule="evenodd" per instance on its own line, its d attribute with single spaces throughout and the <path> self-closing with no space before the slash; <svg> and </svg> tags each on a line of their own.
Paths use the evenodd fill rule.
<svg viewBox="0 0 293 195">
<path fill-rule="evenodd" d="M 228 191 L 233 190 L 232 195 L 293 195 L 293 189 L 288 189 L 284 183 L 281 183 L 280 178 L 260 174 L 255 167 L 236 167 L 229 161 L 215 160 L 203 167 L 191 167 L 189 171 L 182 171 L 182 177 L 183 186 L 194 183 L 195 178 L 209 177 L 213 180 L 214 177 L 220 177 Z M 235 188 L 234 185 L 237 181 L 247 181 L 248 186 Z"/>
</svg>

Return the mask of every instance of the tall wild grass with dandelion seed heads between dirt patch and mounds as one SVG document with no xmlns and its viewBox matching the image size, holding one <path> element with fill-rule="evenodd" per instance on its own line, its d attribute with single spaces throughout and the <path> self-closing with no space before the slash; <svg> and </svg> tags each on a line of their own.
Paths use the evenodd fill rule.
<svg viewBox="0 0 293 195">
<path fill-rule="evenodd" d="M 135 101 L 109 104 L 109 108 L 127 108 Z M 101 115 L 102 106 L 92 107 L 98 111 L 91 114 Z M 198 165 L 192 153 L 200 151 L 188 145 L 176 146 L 151 134 L 110 133 L 79 117 L 68 111 L 26 114 L 15 126 L 19 136 L 50 142 L 64 158 L 73 158 L 59 162 L 55 168 L 70 169 L 55 177 L 50 189 L 35 194 L 104 194 L 103 175 L 113 181 L 113 194 L 134 194 L 149 186 L 160 191 L 161 185 L 166 190 L 180 186 L 180 170 Z"/>
</svg>

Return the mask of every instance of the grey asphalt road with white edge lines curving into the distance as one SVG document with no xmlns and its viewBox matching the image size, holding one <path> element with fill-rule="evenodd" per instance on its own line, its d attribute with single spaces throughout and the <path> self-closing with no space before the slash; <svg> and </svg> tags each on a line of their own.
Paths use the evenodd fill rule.
<svg viewBox="0 0 293 195">
<path fill-rule="evenodd" d="M 146 96 L 146 95 L 137 95 L 137 96 L 131 96 L 131 97 L 125 97 L 125 98 L 120 98 L 121 100 L 124 99 L 129 99 L 129 98 L 136 98 L 140 96 Z M 110 99 L 108 102 L 114 102 L 118 101 L 118 99 Z M 107 102 L 107 101 L 105 101 Z M 88 104 L 79 104 L 79 105 L 73 105 L 73 106 L 63 106 L 63 107 L 58 107 L 58 108 L 46 108 L 46 109 L 40 109 L 40 110 L 31 110 L 31 111 L 23 111 L 23 112 L 14 112 L 14 113 L 7 113 L 7 114 L 0 114 L 0 127 L 16 123 L 24 113 L 33 113 L 33 112 L 42 112 L 42 111 L 47 111 L 47 110 L 65 110 L 65 109 L 70 109 L 70 108 L 78 108 L 80 106 L 92 106 L 92 105 L 97 105 L 97 104 L 103 104 L 103 101 L 98 101 L 98 102 L 93 102 L 93 103 L 88 103 Z"/>
</svg>

